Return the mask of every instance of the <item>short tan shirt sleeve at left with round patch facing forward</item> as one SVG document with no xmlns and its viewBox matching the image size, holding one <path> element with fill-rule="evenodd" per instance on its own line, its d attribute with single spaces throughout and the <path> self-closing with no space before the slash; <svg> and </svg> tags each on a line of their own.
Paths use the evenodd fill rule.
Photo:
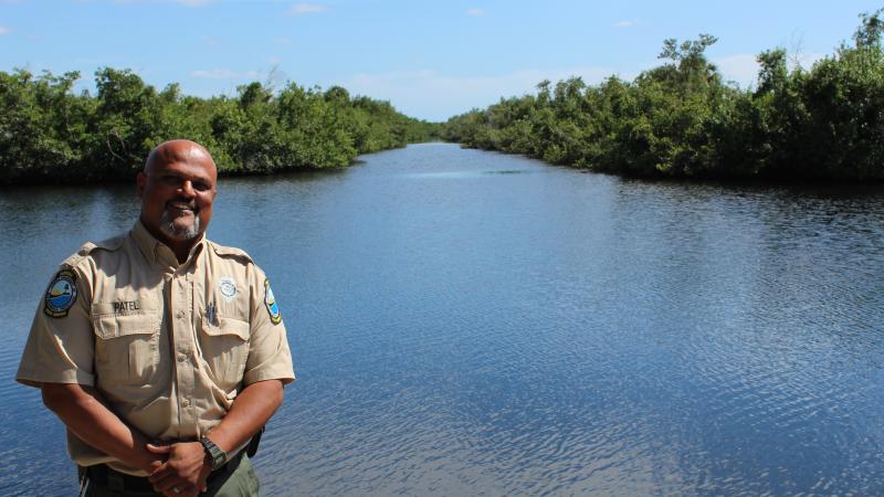
<svg viewBox="0 0 884 497">
<path fill-rule="evenodd" d="M 66 281 L 62 281 L 67 275 Z M 73 277 L 71 277 L 73 275 Z M 73 281 L 71 281 L 73 279 Z M 51 302 L 53 288 L 70 282 L 73 302 Z M 63 298 L 63 296 L 62 296 Z M 90 317 L 91 292 L 83 274 L 62 266 L 40 299 L 15 380 L 29 387 L 43 383 L 95 383 L 95 335 Z"/>
</svg>

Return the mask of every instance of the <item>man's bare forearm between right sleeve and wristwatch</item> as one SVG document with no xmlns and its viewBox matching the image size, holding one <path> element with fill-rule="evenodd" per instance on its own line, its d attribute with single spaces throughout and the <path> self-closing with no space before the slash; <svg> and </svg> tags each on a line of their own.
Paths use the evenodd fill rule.
<svg viewBox="0 0 884 497">
<path fill-rule="evenodd" d="M 283 402 L 283 383 L 266 380 L 243 389 L 230 411 L 209 434 L 221 450 L 230 452 L 244 445 L 276 412 Z"/>
</svg>

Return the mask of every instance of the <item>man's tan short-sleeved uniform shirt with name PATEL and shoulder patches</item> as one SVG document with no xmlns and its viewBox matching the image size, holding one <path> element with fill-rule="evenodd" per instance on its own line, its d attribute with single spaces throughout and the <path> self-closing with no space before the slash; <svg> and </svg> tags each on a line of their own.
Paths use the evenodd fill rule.
<svg viewBox="0 0 884 497">
<path fill-rule="evenodd" d="M 278 307 L 245 252 L 204 237 L 187 262 L 140 221 L 62 264 L 34 316 L 18 381 L 95 387 L 150 438 L 197 440 L 256 381 L 294 380 Z M 71 458 L 143 472 L 69 433 Z"/>
</svg>

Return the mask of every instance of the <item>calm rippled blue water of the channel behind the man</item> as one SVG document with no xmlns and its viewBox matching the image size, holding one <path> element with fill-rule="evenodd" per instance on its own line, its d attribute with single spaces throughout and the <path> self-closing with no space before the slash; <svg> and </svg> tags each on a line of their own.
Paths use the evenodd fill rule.
<svg viewBox="0 0 884 497">
<path fill-rule="evenodd" d="M 884 494 L 884 190 L 629 181 L 450 145 L 223 180 L 298 382 L 266 495 Z M 12 381 L 128 187 L 0 192 L 0 495 L 67 495 Z"/>
</svg>

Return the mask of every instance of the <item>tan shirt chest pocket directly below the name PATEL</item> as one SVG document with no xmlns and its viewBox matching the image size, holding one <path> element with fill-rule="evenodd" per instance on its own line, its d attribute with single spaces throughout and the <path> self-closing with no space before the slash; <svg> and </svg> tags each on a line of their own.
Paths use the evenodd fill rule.
<svg viewBox="0 0 884 497">
<path fill-rule="evenodd" d="M 149 383 L 159 364 L 159 313 L 93 316 L 98 381 Z"/>
</svg>

